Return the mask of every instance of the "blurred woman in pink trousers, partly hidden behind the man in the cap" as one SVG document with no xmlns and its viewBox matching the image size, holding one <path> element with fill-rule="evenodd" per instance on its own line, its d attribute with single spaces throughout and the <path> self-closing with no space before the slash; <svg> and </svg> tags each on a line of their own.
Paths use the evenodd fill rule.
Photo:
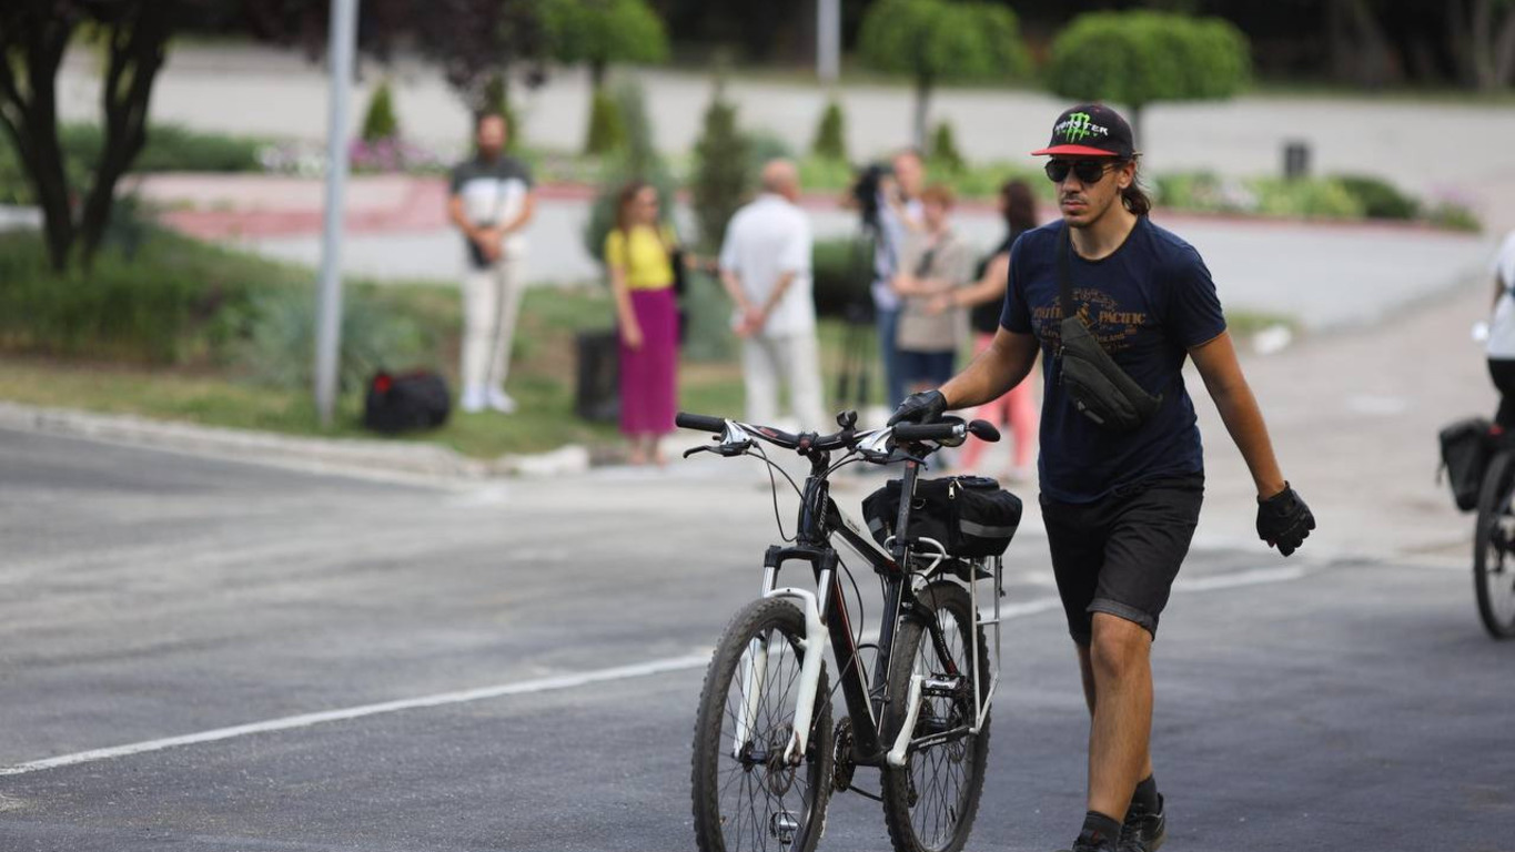
<svg viewBox="0 0 1515 852">
<path fill-rule="evenodd" d="M 1036 197 L 1021 179 L 1007 180 L 1000 186 L 1000 216 L 1004 218 L 1004 239 L 979 262 L 976 281 L 938 295 L 930 309 L 935 312 L 953 307 L 968 309 L 968 325 L 973 328 L 973 354 L 982 356 L 1000 330 L 1000 310 L 1004 307 L 1004 289 L 1009 285 L 1011 247 L 1026 232 L 1036 227 Z M 1027 377 L 1030 378 L 1030 377 Z M 1021 381 L 1001 396 L 973 410 L 970 419 L 982 419 L 995 427 L 1009 427 L 1015 439 L 1014 457 L 1006 480 L 1024 483 L 1032 478 L 1032 463 L 1036 454 L 1036 390 L 1035 381 Z M 962 448 L 957 468 L 973 472 L 988 443 L 970 440 Z"/>
</svg>

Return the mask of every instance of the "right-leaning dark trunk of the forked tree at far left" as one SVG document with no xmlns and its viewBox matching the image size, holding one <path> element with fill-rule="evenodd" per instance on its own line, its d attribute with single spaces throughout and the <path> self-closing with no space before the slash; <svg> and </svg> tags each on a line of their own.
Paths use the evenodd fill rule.
<svg viewBox="0 0 1515 852">
<path fill-rule="evenodd" d="M 168 5 L 141 3 L 129 20 L 117 23 L 111 30 L 111 61 L 102 86 L 105 144 L 80 222 L 86 268 L 94 263 L 106 225 L 111 224 L 115 185 L 147 142 L 147 104 L 158 71 L 164 67 L 170 32 L 165 6 Z"/>
</svg>

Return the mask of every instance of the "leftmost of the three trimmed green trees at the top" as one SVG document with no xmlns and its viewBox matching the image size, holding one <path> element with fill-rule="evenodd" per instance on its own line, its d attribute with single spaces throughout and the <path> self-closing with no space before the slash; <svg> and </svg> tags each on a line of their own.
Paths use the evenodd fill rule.
<svg viewBox="0 0 1515 852">
<path fill-rule="evenodd" d="M 586 154 L 603 154 L 614 142 L 608 126 L 620 123 L 609 115 L 614 103 L 604 97 L 604 73 L 612 62 L 664 62 L 668 35 L 662 18 L 645 0 L 545 0 L 542 26 L 559 62 L 589 65 L 591 115 L 585 138 Z"/>
</svg>

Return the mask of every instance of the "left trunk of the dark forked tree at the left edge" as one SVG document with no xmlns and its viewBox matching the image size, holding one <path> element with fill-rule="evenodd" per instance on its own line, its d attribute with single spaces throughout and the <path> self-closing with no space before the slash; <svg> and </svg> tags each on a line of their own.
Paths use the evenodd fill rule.
<svg viewBox="0 0 1515 852">
<path fill-rule="evenodd" d="M 15 21 L 15 18 L 12 18 Z M 0 58 L 23 54 L 23 62 L 0 62 L 0 126 L 15 142 L 21 165 L 42 209 L 42 233 L 53 269 L 68 266 L 74 244 L 74 219 L 68 201 L 68 177 L 58 145 L 58 67 L 76 21 L 53 14 L 47 3 L 21 12 L 17 26 L 0 33 Z M 24 68 L 26 94 L 15 71 Z"/>
</svg>

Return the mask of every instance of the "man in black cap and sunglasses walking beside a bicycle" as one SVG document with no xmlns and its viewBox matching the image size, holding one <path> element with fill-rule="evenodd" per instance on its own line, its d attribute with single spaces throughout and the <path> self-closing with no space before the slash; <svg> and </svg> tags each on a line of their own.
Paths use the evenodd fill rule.
<svg viewBox="0 0 1515 852">
<path fill-rule="evenodd" d="M 1148 754 L 1151 642 L 1204 492 L 1185 359 L 1251 472 L 1257 534 L 1289 555 L 1315 518 L 1274 459 L 1209 269 L 1147 218 L 1126 120 L 1076 106 L 1033 154 L 1050 157 L 1062 218 L 1011 250 L 991 347 L 889 422 L 998 398 L 1045 353 L 1042 519 L 1091 714 L 1088 811 L 1073 852 L 1144 852 L 1167 835 Z"/>
</svg>

